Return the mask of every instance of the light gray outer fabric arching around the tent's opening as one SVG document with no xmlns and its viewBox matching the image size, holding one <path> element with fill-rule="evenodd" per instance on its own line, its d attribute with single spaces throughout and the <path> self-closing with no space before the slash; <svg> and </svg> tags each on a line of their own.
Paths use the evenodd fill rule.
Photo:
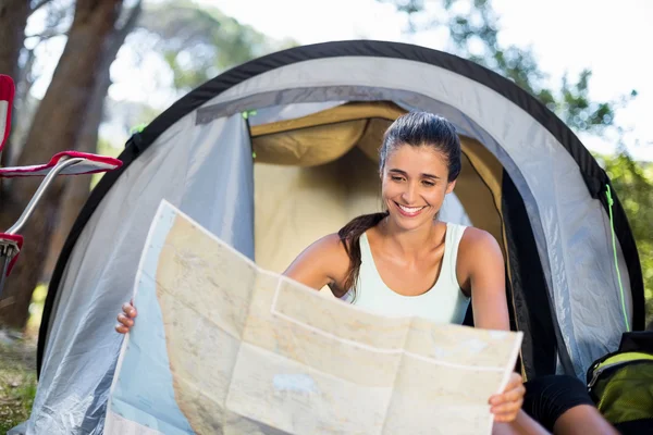
<svg viewBox="0 0 653 435">
<path fill-rule="evenodd" d="M 115 315 L 131 297 L 161 199 L 254 258 L 260 234 L 255 222 L 261 220 L 255 217 L 249 125 L 348 101 L 393 101 L 436 112 L 483 144 L 523 199 L 525 224 L 533 231 L 574 372 L 582 377 L 593 360 L 618 347 L 625 325 L 609 221 L 551 132 L 500 92 L 443 67 L 387 57 L 311 59 L 255 75 L 207 100 L 171 124 L 116 178 L 66 260 L 42 338 L 27 433 L 101 433 L 106 386 L 122 343 L 113 331 Z M 256 114 L 246 120 L 241 114 L 246 111 Z M 258 186 L 257 195 L 266 195 L 263 188 Z M 365 203 L 373 203 L 371 190 Z M 358 212 L 354 206 L 346 212 Z M 469 222 L 455 197 L 442 215 Z M 629 275 L 618 244 L 617 261 L 631 319 Z"/>
</svg>

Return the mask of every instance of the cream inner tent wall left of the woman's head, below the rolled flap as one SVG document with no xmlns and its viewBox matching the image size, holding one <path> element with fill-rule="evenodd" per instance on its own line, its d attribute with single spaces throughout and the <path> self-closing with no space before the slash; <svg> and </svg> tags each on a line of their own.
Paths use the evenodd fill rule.
<svg viewBox="0 0 653 435">
<path fill-rule="evenodd" d="M 255 164 L 256 262 L 281 273 L 318 238 L 380 211 L 378 174 L 358 148 L 315 167 Z"/>
</svg>

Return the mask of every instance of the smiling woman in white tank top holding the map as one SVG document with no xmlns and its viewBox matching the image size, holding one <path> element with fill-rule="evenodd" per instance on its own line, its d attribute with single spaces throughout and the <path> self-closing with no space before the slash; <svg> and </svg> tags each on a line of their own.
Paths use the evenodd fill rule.
<svg viewBox="0 0 653 435">
<path fill-rule="evenodd" d="M 309 246 L 284 274 L 315 289 L 383 314 L 463 323 L 469 301 L 476 327 L 508 330 L 504 260 L 496 240 L 438 213 L 460 173 L 460 142 L 443 117 L 415 112 L 397 119 L 380 149 L 385 211 L 354 219 Z M 127 304 L 116 331 L 136 310 Z M 495 432 L 542 433 L 521 411 L 525 387 L 513 373 L 489 401 Z M 504 423 L 504 424 L 502 424 Z M 509 423 L 509 424 L 505 424 Z"/>
</svg>

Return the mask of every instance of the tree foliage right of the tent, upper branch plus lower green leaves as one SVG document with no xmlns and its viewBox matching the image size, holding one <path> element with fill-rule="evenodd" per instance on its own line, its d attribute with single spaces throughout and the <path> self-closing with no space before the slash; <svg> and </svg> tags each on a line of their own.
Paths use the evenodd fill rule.
<svg viewBox="0 0 653 435">
<path fill-rule="evenodd" d="M 576 133 L 601 135 L 606 129 L 621 133 L 614 124 L 615 111 L 637 97 L 630 90 L 617 101 L 592 101 L 589 97 L 591 71 L 582 71 L 576 80 L 564 76 L 557 90 L 547 86 L 531 48 L 503 47 L 498 42 L 501 23 L 491 0 L 377 0 L 394 4 L 408 18 L 408 33 L 444 28 L 452 51 L 509 78 L 542 101 Z M 466 2 L 470 8 L 455 8 Z M 459 12 L 463 10 L 464 12 Z M 615 190 L 623 198 L 641 259 L 646 288 L 648 322 L 653 328 L 653 176 L 651 170 L 633 161 L 620 147 L 613 157 L 602 157 Z M 625 195 L 628 192 L 628 195 Z"/>
</svg>

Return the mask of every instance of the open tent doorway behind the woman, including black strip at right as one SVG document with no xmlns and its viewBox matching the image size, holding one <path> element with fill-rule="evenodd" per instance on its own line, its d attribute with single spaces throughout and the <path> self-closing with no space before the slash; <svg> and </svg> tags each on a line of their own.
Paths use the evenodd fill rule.
<svg viewBox="0 0 653 435">
<path fill-rule="evenodd" d="M 378 148 L 385 129 L 405 112 L 391 102 L 352 102 L 263 124 L 251 120 L 259 265 L 282 273 L 318 238 L 357 215 L 382 210 Z M 460 136 L 460 144 L 463 167 L 441 219 L 485 229 L 498 241 L 512 327 L 526 333 L 523 374 L 551 374 L 555 337 L 523 201 L 485 146 L 468 136 Z M 330 294 L 328 287 L 322 291 Z M 472 324 L 471 315 L 469 310 L 465 324 Z"/>
</svg>

